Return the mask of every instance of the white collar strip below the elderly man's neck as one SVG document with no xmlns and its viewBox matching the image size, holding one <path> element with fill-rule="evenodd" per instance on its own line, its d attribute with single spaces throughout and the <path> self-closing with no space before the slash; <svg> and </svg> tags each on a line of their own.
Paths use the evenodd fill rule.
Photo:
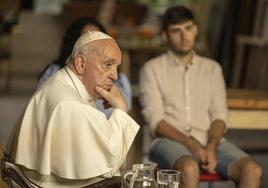
<svg viewBox="0 0 268 188">
<path fill-rule="evenodd" d="M 70 67 L 64 67 L 68 77 L 70 77 L 71 84 L 73 85 L 74 89 L 79 93 L 82 99 L 86 100 L 89 104 L 95 106 L 95 102 L 93 97 L 88 93 L 86 87 L 81 82 L 81 80 L 77 77 L 77 75 L 70 69 Z"/>
</svg>

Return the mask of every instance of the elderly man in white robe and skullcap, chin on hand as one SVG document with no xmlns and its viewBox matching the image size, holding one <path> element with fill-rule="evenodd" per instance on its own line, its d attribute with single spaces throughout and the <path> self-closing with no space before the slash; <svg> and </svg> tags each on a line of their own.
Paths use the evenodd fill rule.
<svg viewBox="0 0 268 188">
<path fill-rule="evenodd" d="M 42 187 L 82 187 L 115 176 L 139 129 L 114 85 L 121 52 L 108 35 L 87 32 L 67 66 L 33 95 L 7 152 Z M 114 111 L 107 120 L 94 101 Z"/>
</svg>

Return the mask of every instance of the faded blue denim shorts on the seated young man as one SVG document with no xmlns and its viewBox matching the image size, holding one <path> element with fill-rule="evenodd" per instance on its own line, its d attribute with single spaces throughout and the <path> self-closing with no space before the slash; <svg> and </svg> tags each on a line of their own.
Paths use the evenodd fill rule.
<svg viewBox="0 0 268 188">
<path fill-rule="evenodd" d="M 185 155 L 192 156 L 192 153 L 184 145 L 167 138 L 159 138 L 152 145 L 149 157 L 160 168 L 172 169 L 176 160 Z M 216 171 L 228 178 L 228 169 L 242 157 L 248 157 L 248 154 L 223 138 L 217 148 Z"/>
</svg>

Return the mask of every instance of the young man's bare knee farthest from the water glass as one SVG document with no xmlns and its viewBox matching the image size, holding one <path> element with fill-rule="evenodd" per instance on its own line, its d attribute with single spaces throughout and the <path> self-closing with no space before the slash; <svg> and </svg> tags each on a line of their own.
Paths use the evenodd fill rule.
<svg viewBox="0 0 268 188">
<path fill-rule="evenodd" d="M 252 159 L 246 159 L 242 166 L 242 174 L 259 179 L 262 176 L 262 167 Z"/>
</svg>

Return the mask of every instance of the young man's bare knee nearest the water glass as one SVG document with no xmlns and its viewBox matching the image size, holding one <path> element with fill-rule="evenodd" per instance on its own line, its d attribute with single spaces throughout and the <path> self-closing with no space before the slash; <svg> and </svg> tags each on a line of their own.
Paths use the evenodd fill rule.
<svg viewBox="0 0 268 188">
<path fill-rule="evenodd" d="M 180 170 L 185 175 L 199 174 L 199 166 L 197 161 L 189 156 L 181 157 L 176 162 L 175 168 Z"/>
</svg>

